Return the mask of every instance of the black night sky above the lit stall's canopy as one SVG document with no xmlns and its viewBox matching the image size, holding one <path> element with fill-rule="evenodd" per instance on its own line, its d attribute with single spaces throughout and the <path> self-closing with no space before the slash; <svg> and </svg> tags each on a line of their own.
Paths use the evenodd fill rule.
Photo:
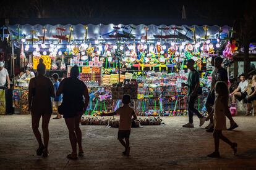
<svg viewBox="0 0 256 170">
<path fill-rule="evenodd" d="M 67 1 L 34 0 L 0 2 L 0 18 L 112 17 L 234 19 L 256 9 L 255 1 Z"/>
</svg>

